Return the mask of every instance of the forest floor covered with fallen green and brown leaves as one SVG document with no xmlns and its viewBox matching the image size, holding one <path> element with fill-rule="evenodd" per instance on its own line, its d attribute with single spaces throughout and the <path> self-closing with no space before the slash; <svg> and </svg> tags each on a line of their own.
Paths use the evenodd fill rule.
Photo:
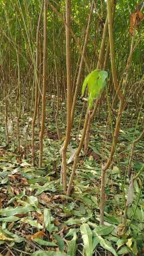
<svg viewBox="0 0 144 256">
<path fill-rule="evenodd" d="M 125 196 L 128 191 L 129 178 L 125 175 L 125 170 L 137 117 L 134 117 L 132 111 L 131 116 L 127 116 L 126 111 L 123 114 L 117 144 L 120 169 L 114 156 L 105 180 L 104 225 L 99 226 L 101 162 L 109 156 L 112 141 L 110 127 L 106 125 L 106 113 L 103 110 L 94 118 L 88 152 L 86 155 L 83 150 L 80 153 L 72 194 L 68 197 L 63 195 L 59 185 L 60 148 L 64 140 L 65 119 L 59 120 L 63 137 L 58 141 L 54 118 L 49 120 L 48 117 L 52 116 L 51 111 L 48 109 L 46 113 L 42 168 L 31 165 L 31 126 L 28 131 L 28 158 L 25 156 L 22 130 L 29 118 L 28 114 L 21 115 L 20 154 L 13 152 L 12 134 L 9 133 L 9 144 L 5 144 L 4 115 L 0 115 L 0 256 L 90 256 L 91 250 L 93 255 L 142 255 L 144 193 L 140 194 L 137 201 L 141 177 L 134 181 L 133 203 L 127 210 L 127 231 L 123 237 L 117 235 L 124 201 L 123 184 Z M 75 118 L 67 159 L 76 148 L 78 122 Z M 39 128 L 36 127 L 35 130 L 35 160 L 38 163 Z M 78 139 L 81 130 L 82 126 Z M 141 125 L 137 125 L 135 136 L 140 135 L 141 130 Z M 16 148 L 15 139 L 14 142 Z M 138 171 L 142 166 L 143 156 L 141 139 L 134 150 L 134 171 Z M 67 178 L 71 167 L 72 161 L 69 160 Z M 130 222 L 131 218 L 133 219 Z"/>
</svg>

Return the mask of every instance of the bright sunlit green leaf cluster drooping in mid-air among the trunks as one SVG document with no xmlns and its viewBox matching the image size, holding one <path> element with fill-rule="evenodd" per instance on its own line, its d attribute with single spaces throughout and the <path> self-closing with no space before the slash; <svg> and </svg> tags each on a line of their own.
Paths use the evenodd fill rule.
<svg viewBox="0 0 144 256">
<path fill-rule="evenodd" d="M 82 96 L 86 85 L 88 85 L 88 106 L 91 109 L 93 106 L 93 100 L 98 98 L 105 86 L 105 80 L 107 72 L 103 70 L 94 70 L 89 73 L 82 84 Z"/>
</svg>

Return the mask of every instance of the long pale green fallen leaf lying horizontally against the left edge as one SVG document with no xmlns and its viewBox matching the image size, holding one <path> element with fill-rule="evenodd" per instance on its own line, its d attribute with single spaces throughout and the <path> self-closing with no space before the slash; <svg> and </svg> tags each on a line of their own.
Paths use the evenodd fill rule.
<svg viewBox="0 0 144 256">
<path fill-rule="evenodd" d="M 15 208 L 13 207 L 6 207 L 6 208 L 1 208 L 0 209 L 0 215 L 9 217 L 15 214 L 21 214 L 21 213 L 27 213 L 29 211 L 34 211 L 34 208 L 31 206 L 17 206 Z"/>
</svg>

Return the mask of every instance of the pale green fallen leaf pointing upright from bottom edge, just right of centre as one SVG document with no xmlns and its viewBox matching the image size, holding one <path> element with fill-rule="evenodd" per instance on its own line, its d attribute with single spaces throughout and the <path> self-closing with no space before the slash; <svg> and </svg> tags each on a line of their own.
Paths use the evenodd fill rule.
<svg viewBox="0 0 144 256">
<path fill-rule="evenodd" d="M 82 235 L 84 251 L 86 256 L 92 256 L 93 247 L 92 247 L 92 231 L 87 223 L 83 223 L 80 226 L 80 232 Z"/>
</svg>

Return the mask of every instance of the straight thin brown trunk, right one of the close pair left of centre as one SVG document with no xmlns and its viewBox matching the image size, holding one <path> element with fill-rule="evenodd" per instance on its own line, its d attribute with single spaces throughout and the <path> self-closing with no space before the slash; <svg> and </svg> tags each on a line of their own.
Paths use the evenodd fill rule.
<svg viewBox="0 0 144 256">
<path fill-rule="evenodd" d="M 43 88 L 42 88 L 42 117 L 39 133 L 39 167 L 42 167 L 43 134 L 45 121 L 45 95 L 46 95 L 46 9 L 47 0 L 44 0 L 44 24 L 43 24 Z"/>
</svg>

